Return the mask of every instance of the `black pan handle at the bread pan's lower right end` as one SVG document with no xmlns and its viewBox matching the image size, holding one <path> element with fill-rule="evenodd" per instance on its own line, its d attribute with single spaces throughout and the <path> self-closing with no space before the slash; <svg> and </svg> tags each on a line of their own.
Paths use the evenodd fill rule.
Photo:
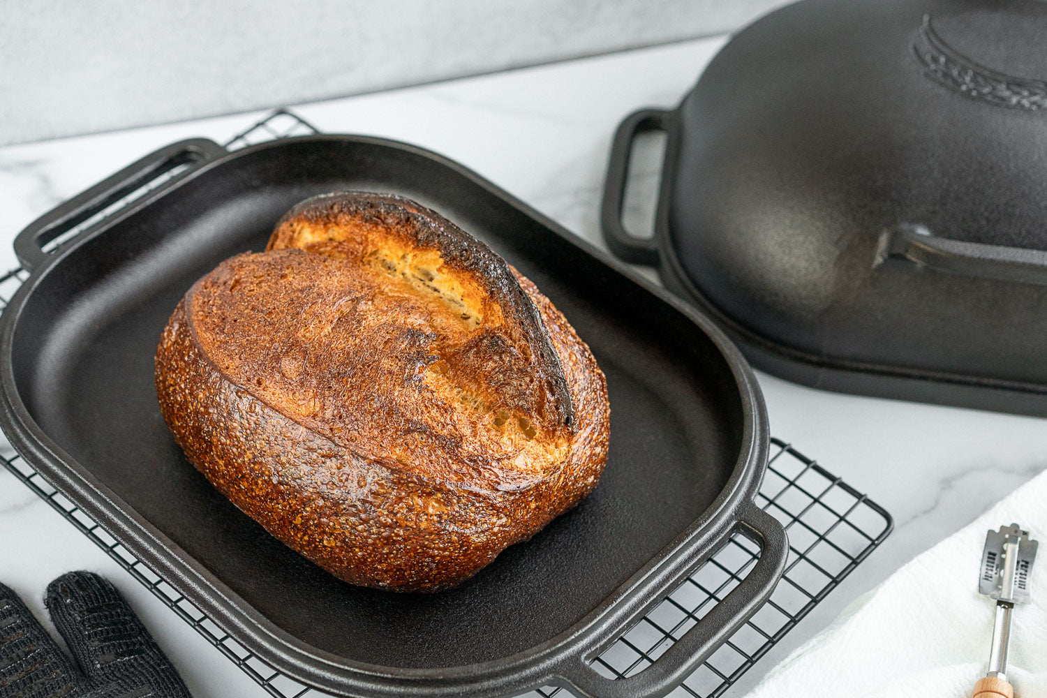
<svg viewBox="0 0 1047 698">
<path fill-rule="evenodd" d="M 723 541 L 739 531 L 760 545 L 760 558 L 749 576 L 683 637 L 654 660 L 628 678 L 612 679 L 599 673 L 582 657 L 572 670 L 561 672 L 572 691 L 585 698 L 637 698 L 661 696 L 672 690 L 722 645 L 774 591 L 785 560 L 788 539 L 776 518 L 750 502 L 737 527 L 728 528 Z"/>
</svg>

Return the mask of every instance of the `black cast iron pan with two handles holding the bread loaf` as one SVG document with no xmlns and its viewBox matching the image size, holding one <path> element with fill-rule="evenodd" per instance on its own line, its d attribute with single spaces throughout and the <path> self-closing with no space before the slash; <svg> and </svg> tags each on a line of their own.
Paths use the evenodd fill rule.
<svg viewBox="0 0 1047 698">
<path fill-rule="evenodd" d="M 55 249 L 127 192 L 177 177 Z M 183 457 L 160 416 L 153 356 L 185 290 L 261 250 L 274 222 L 336 189 L 404 195 L 532 278 L 607 376 L 610 451 L 593 495 L 462 586 L 398 594 L 336 580 L 269 536 Z M 2 420 L 19 452 L 230 635 L 280 671 L 353 696 L 661 696 L 766 600 L 787 544 L 754 503 L 763 401 L 705 316 L 474 173 L 389 140 L 310 136 L 226 153 L 154 153 L 16 240 L 29 277 L 0 328 Z M 587 660 L 735 532 L 762 547 L 749 577 L 627 679 Z"/>
</svg>

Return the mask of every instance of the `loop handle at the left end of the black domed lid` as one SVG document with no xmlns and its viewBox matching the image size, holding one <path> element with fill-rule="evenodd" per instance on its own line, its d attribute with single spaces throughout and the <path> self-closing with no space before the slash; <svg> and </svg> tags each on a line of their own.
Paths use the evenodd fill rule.
<svg viewBox="0 0 1047 698">
<path fill-rule="evenodd" d="M 603 203 L 600 206 L 600 225 L 607 247 L 620 260 L 647 266 L 658 265 L 658 243 L 653 239 L 637 238 L 622 225 L 622 206 L 625 204 L 625 180 L 629 174 L 632 141 L 641 133 L 668 130 L 671 112 L 662 109 L 641 109 L 625 117 L 610 145 L 610 162 L 603 185 Z"/>
</svg>

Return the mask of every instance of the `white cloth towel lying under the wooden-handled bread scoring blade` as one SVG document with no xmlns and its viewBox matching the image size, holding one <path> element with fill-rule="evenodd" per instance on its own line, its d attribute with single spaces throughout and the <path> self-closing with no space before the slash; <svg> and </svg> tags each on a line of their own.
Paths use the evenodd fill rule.
<svg viewBox="0 0 1047 698">
<path fill-rule="evenodd" d="M 978 593 L 985 532 L 1012 522 L 1040 550 L 1032 603 L 1015 609 L 1007 678 L 1016 698 L 1047 698 L 1047 472 L 859 599 L 750 698 L 971 698 L 996 610 Z"/>
</svg>

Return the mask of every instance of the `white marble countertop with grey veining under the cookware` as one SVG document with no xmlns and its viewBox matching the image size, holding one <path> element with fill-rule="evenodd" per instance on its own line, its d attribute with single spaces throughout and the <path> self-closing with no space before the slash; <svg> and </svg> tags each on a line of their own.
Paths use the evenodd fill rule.
<svg viewBox="0 0 1047 698">
<path fill-rule="evenodd" d="M 331 132 L 391 136 L 442 152 L 596 244 L 598 201 L 618 120 L 672 105 L 721 40 L 580 60 L 296 108 Z M 34 217 L 147 151 L 206 135 L 223 140 L 258 115 L 0 149 L 0 266 Z M 638 190 L 656 162 L 644 158 Z M 895 533 L 766 661 L 827 625 L 842 606 L 916 553 L 1047 467 L 1047 423 L 842 396 L 760 375 L 773 432 L 870 494 Z M 6 472 L 0 472 L 0 581 L 38 611 L 47 582 L 72 568 L 107 575 L 131 599 L 197 698 L 263 696 L 245 675 Z M 762 669 L 767 669 L 764 665 Z M 742 695 L 760 673 L 730 695 Z"/>
</svg>

